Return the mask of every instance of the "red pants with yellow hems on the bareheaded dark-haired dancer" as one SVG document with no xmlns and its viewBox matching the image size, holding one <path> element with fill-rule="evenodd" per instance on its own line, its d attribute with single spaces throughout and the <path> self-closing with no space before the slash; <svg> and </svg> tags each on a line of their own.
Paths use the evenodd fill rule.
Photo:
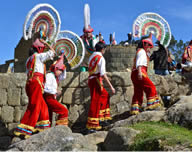
<svg viewBox="0 0 192 152">
<path fill-rule="evenodd" d="M 88 85 L 91 93 L 91 104 L 86 127 L 99 130 L 101 129 L 99 120 L 111 120 L 109 109 L 110 96 L 103 88 L 101 77 L 89 79 Z"/>
</svg>

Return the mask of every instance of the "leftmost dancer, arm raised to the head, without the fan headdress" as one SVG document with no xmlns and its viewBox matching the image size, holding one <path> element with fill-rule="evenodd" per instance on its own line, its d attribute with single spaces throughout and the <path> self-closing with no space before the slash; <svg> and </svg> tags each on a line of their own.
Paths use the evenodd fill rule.
<svg viewBox="0 0 192 152">
<path fill-rule="evenodd" d="M 45 46 L 50 50 L 43 53 Z M 48 107 L 43 99 L 46 67 L 45 62 L 54 56 L 54 49 L 43 39 L 36 39 L 30 49 L 30 57 L 26 62 L 27 82 L 26 93 L 29 98 L 27 110 L 20 124 L 14 131 L 16 136 L 28 138 L 36 131 L 50 127 Z"/>
</svg>

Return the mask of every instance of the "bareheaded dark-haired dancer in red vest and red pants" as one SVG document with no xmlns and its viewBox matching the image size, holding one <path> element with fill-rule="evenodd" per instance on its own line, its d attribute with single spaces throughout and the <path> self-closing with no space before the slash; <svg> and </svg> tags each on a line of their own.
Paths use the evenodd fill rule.
<svg viewBox="0 0 192 152">
<path fill-rule="evenodd" d="M 109 108 L 110 96 L 103 87 L 103 79 L 109 85 L 112 93 L 115 93 L 115 89 L 106 75 L 105 59 L 102 56 L 105 52 L 105 44 L 98 42 L 95 48 L 96 52 L 89 58 L 88 86 L 90 88 L 91 104 L 86 125 L 88 133 L 101 129 L 101 124 L 105 125 L 108 120 L 111 120 Z"/>
</svg>

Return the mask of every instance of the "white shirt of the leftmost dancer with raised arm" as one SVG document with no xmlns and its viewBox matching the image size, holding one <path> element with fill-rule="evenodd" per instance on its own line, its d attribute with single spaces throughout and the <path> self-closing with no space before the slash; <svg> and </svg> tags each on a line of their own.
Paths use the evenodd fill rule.
<svg viewBox="0 0 192 152">
<path fill-rule="evenodd" d="M 44 74 L 44 62 L 51 59 L 54 56 L 54 52 L 49 50 L 44 53 L 36 53 L 35 56 L 36 56 L 36 60 L 34 65 L 34 72 L 39 72 Z M 29 59 L 30 57 L 27 59 L 27 62 Z"/>
</svg>

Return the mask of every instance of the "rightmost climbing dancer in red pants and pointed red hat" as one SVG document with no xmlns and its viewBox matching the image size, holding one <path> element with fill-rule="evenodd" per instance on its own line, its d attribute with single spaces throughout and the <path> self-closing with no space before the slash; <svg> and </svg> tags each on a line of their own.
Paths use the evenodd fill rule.
<svg viewBox="0 0 192 152">
<path fill-rule="evenodd" d="M 143 103 L 143 92 L 147 96 L 146 109 L 152 110 L 160 106 L 159 97 L 153 82 L 147 75 L 148 53 L 153 48 L 152 35 L 142 39 L 137 47 L 134 66 L 131 73 L 131 80 L 134 86 L 134 95 L 132 98 L 131 114 L 139 114 Z"/>
</svg>

